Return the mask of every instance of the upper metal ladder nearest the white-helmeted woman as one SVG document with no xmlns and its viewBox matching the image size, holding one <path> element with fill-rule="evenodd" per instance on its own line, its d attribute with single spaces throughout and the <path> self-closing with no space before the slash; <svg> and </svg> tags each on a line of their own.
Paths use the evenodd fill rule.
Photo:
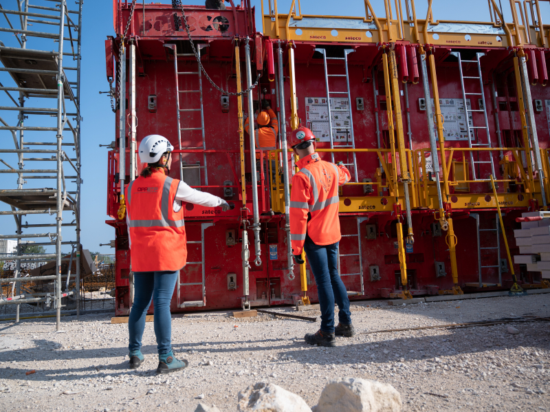
<svg viewBox="0 0 550 412">
<path fill-rule="evenodd" d="M 186 147 L 186 149 L 200 149 L 206 150 L 206 140 L 204 132 L 204 107 L 203 107 L 203 96 L 202 96 L 202 73 L 199 63 L 197 63 L 197 72 L 179 72 L 177 69 L 177 58 L 178 57 L 195 57 L 193 53 L 177 53 L 175 45 L 166 45 L 166 47 L 172 47 L 174 50 L 174 70 L 176 78 L 176 105 L 177 105 L 177 141 L 179 142 L 179 149 L 184 149 L 181 147 L 181 131 L 201 131 L 202 135 L 202 146 L 199 147 Z M 203 47 L 208 47 L 208 45 L 197 45 L 197 51 L 200 54 Z M 198 90 L 180 90 L 179 89 L 179 76 L 192 76 L 197 75 L 199 77 L 199 89 Z M 190 109 L 180 109 L 179 105 L 179 95 L 180 94 L 199 94 L 199 101 L 201 107 L 199 108 L 190 108 Z M 197 112 L 201 113 L 201 127 L 181 127 L 181 112 Z M 189 118 L 188 118 L 189 119 Z M 190 119 L 189 119 L 190 122 Z M 197 162 L 198 163 L 198 162 Z M 204 184 L 208 186 L 208 165 L 206 164 L 206 153 L 203 153 L 203 165 L 184 165 L 183 156 L 179 156 L 179 180 L 184 180 L 184 169 L 204 169 Z M 199 186 L 201 186 L 201 174 L 199 173 Z"/>
</svg>

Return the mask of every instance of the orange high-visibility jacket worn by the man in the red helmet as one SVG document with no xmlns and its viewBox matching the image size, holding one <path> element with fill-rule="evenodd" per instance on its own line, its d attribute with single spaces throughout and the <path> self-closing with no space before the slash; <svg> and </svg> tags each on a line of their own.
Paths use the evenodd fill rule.
<svg viewBox="0 0 550 412">
<path fill-rule="evenodd" d="M 342 238 L 338 186 L 349 182 L 351 175 L 345 166 L 320 160 L 318 153 L 298 160 L 296 166 L 300 171 L 292 177 L 290 240 L 292 253 L 301 254 L 306 233 L 319 246 Z"/>
</svg>

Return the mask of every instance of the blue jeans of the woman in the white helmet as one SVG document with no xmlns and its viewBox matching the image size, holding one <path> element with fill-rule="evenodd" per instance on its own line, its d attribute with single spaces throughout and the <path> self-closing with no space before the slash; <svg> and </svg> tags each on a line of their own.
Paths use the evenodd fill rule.
<svg viewBox="0 0 550 412">
<path fill-rule="evenodd" d="M 158 352 L 163 355 L 172 350 L 170 301 L 174 294 L 177 272 L 133 272 L 134 299 L 128 320 L 129 351 L 137 351 L 142 347 L 145 316 L 151 299 L 155 303 L 154 324 Z"/>
</svg>

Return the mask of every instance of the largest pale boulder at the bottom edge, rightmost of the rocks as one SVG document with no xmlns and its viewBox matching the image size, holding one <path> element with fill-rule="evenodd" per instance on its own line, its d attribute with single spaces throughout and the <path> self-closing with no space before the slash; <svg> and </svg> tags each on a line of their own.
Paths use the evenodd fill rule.
<svg viewBox="0 0 550 412">
<path fill-rule="evenodd" d="M 331 380 L 314 412 L 399 412 L 401 395 L 390 384 L 367 379 Z"/>
</svg>

